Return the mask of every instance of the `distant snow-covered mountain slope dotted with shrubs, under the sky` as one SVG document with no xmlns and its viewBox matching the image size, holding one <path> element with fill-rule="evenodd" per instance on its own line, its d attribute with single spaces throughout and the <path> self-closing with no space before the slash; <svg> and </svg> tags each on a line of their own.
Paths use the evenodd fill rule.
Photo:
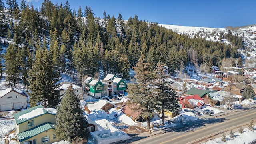
<svg viewBox="0 0 256 144">
<path fill-rule="evenodd" d="M 220 33 L 227 34 L 229 30 L 232 35 L 238 35 L 242 37 L 245 50 L 241 50 L 241 54 L 244 60 L 251 59 L 256 61 L 256 24 L 250 26 L 243 26 L 237 28 L 206 28 L 206 27 L 192 27 L 192 26 L 176 26 L 159 24 L 165 28 L 171 29 L 178 34 L 185 34 L 190 38 L 205 38 L 206 40 L 221 41 L 226 44 L 231 44 L 226 38 L 220 38 Z M 249 56 L 247 55 L 250 54 Z M 246 63 L 246 61 L 245 61 Z M 250 67 L 255 67 L 250 64 Z"/>
</svg>

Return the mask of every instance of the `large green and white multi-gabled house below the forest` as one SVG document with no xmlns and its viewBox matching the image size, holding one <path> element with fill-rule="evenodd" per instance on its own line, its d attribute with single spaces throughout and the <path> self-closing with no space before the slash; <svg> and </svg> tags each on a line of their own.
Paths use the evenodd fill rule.
<svg viewBox="0 0 256 144">
<path fill-rule="evenodd" d="M 126 82 L 114 74 L 107 74 L 103 80 L 89 77 L 86 79 L 86 83 L 89 86 L 88 94 L 97 98 L 124 94 L 126 89 Z"/>
</svg>

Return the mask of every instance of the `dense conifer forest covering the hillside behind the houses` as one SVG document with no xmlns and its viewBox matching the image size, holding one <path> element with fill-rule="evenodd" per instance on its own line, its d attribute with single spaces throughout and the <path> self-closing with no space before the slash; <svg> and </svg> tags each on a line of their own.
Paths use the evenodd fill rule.
<svg viewBox="0 0 256 144">
<path fill-rule="evenodd" d="M 220 67 L 223 58 L 240 58 L 238 49 L 244 48 L 242 38 L 231 31 L 220 33 L 220 37 L 232 45 L 191 39 L 157 23 L 139 20 L 137 15 L 124 20 L 121 13 L 110 17 L 102 10 L 100 18 L 94 16 L 90 6 L 74 11 L 68 1 L 54 4 L 44 0 L 38 10 L 25 0 L 20 4 L 6 0 L 6 6 L 0 0 L 0 28 L 1 75 L 5 72 L 13 86 L 29 85 L 33 67 L 52 67 L 51 76 L 58 75 L 49 78 L 54 82 L 61 74 L 81 81 L 84 75 L 94 76 L 100 70 L 127 80 L 130 68 L 136 66 L 142 54 L 152 70 L 158 62 L 166 64 L 172 74 L 183 71 L 188 64 L 195 68 L 205 65 L 210 70 L 212 66 Z M 37 56 L 38 50 L 49 54 L 41 52 L 42 56 Z M 52 66 L 41 66 L 42 60 Z"/>
</svg>

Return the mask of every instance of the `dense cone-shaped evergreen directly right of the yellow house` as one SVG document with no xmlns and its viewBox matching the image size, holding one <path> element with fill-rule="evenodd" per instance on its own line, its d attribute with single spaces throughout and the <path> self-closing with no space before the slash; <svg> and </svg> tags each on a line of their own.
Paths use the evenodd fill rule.
<svg viewBox="0 0 256 144">
<path fill-rule="evenodd" d="M 57 107 L 56 136 L 72 142 L 76 137 L 87 139 L 89 130 L 88 122 L 79 104 L 79 98 L 74 94 L 70 85 Z"/>
</svg>

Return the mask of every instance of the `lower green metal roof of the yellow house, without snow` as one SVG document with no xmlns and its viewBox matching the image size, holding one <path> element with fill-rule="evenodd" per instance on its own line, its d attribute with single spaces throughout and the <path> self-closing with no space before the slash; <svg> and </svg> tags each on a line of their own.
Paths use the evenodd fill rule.
<svg viewBox="0 0 256 144">
<path fill-rule="evenodd" d="M 46 122 L 44 124 L 40 124 L 39 126 L 36 126 L 34 128 L 31 128 L 29 130 L 26 130 L 25 132 L 21 132 L 17 134 L 19 138 L 19 142 L 23 142 L 25 140 L 28 140 L 29 138 L 32 138 L 42 132 L 45 132 L 46 130 L 55 129 L 55 126 L 50 123 Z"/>
</svg>

